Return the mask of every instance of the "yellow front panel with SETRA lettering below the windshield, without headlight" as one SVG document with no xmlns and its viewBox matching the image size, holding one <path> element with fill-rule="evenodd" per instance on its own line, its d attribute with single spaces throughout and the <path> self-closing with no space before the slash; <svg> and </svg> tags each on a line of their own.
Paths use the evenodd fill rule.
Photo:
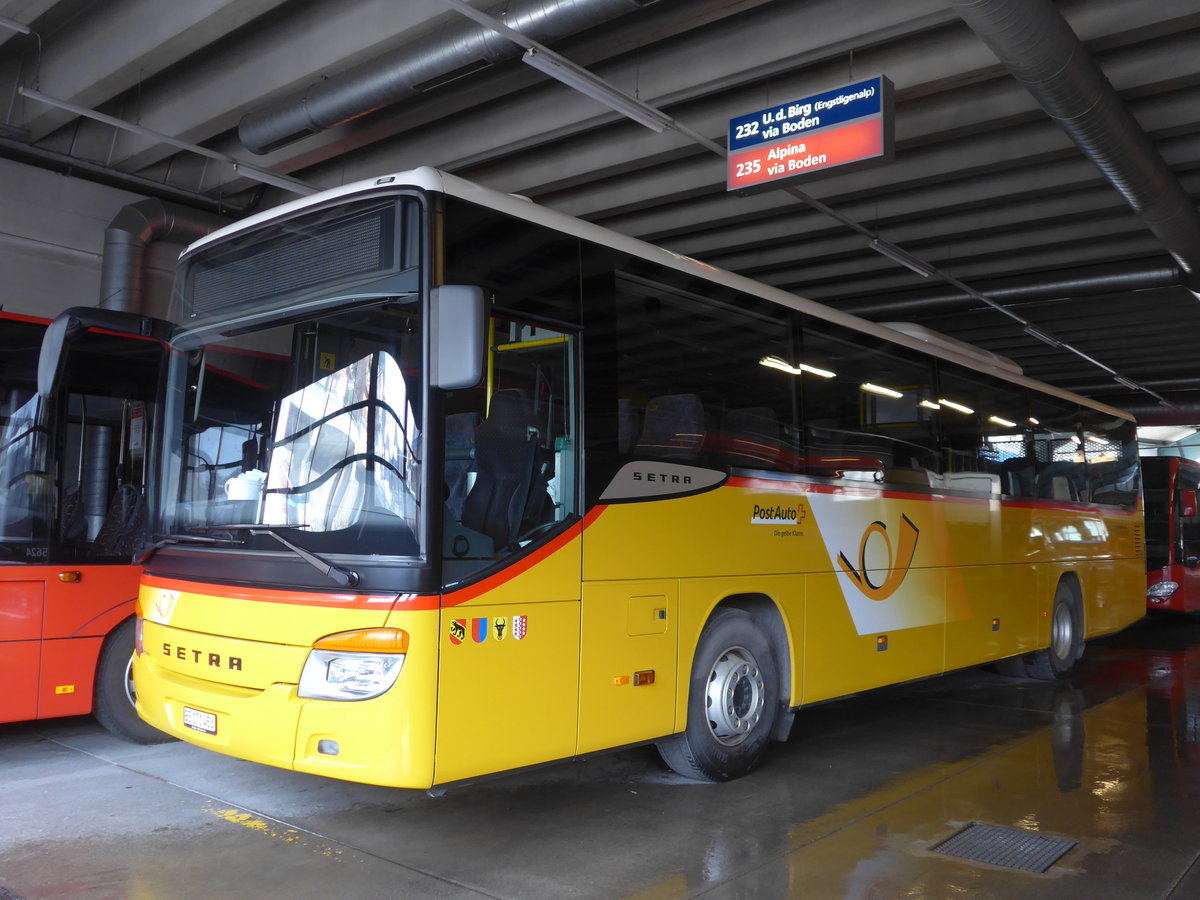
<svg viewBox="0 0 1200 900">
<path fill-rule="evenodd" d="M 434 709 L 428 698 L 437 694 L 436 608 L 406 610 L 395 596 L 233 596 L 209 586 L 203 594 L 184 587 L 162 580 L 142 587 L 144 653 L 133 662 L 142 718 L 184 740 L 253 762 L 367 784 L 433 784 Z M 392 605 L 400 608 L 389 612 Z M 298 696 L 314 641 L 385 624 L 409 635 L 391 690 L 361 701 Z M 234 628 L 247 637 L 214 634 Z M 216 716 L 216 733 L 186 727 L 184 707 Z M 322 740 L 335 742 L 337 754 L 319 752 Z"/>
</svg>

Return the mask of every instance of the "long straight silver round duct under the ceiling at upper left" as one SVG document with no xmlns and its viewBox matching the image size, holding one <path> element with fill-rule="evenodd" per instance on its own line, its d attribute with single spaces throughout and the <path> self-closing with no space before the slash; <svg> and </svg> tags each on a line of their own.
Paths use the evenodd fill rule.
<svg viewBox="0 0 1200 900">
<path fill-rule="evenodd" d="M 535 41 L 552 42 L 648 2 L 653 0 L 509 0 L 487 12 Z M 238 137 L 247 150 L 265 154 L 521 53 L 506 37 L 455 16 L 419 41 L 247 113 Z"/>
</svg>

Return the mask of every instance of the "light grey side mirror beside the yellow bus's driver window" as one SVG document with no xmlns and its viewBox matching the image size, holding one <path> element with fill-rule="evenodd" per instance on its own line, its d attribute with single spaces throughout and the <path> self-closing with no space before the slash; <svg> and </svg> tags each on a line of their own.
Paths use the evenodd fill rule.
<svg viewBox="0 0 1200 900">
<path fill-rule="evenodd" d="M 487 299 L 470 284 L 442 284 L 430 294 L 430 372 L 443 390 L 474 388 L 484 377 Z"/>
</svg>

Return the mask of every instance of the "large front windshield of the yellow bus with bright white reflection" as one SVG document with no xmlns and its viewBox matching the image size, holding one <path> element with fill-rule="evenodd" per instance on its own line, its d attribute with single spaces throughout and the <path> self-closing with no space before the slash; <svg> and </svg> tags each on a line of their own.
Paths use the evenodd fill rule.
<svg viewBox="0 0 1200 900">
<path fill-rule="evenodd" d="M 418 556 L 419 324 L 415 302 L 389 299 L 176 337 L 157 530 L 253 550 L 278 551 L 286 535 L 318 553 Z"/>
</svg>

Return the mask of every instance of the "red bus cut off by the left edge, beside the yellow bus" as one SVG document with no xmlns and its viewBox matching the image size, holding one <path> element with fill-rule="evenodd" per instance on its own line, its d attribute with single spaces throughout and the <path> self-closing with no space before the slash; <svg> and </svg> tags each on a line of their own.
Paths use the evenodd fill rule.
<svg viewBox="0 0 1200 900">
<path fill-rule="evenodd" d="M 137 716 L 130 674 L 149 322 L 0 313 L 0 722 L 94 713 L 128 740 L 167 737 Z"/>
</svg>

